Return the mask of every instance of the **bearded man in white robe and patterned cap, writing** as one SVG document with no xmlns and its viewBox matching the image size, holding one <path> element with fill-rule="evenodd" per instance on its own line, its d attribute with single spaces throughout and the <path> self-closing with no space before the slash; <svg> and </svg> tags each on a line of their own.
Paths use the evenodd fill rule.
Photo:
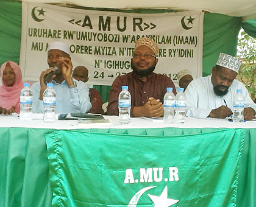
<svg viewBox="0 0 256 207">
<path fill-rule="evenodd" d="M 235 80 L 241 61 L 227 54 L 219 54 L 212 75 L 193 80 L 185 91 L 186 116 L 205 119 L 224 119 L 232 115 L 236 89 L 242 89 L 244 97 L 244 119 L 252 120 L 256 105 L 243 83 Z"/>
</svg>

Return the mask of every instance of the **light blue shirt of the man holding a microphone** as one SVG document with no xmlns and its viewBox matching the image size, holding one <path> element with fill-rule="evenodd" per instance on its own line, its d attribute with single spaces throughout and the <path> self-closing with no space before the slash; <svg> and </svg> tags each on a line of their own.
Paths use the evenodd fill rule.
<svg viewBox="0 0 256 207">
<path fill-rule="evenodd" d="M 56 93 L 56 108 L 55 113 L 86 113 L 91 108 L 88 86 L 81 81 L 76 82 L 76 88 L 69 88 L 66 80 L 62 83 L 56 83 L 52 80 L 53 88 Z M 40 82 L 34 83 L 31 86 L 33 95 L 32 112 L 43 113 L 43 100 L 40 100 Z"/>
</svg>

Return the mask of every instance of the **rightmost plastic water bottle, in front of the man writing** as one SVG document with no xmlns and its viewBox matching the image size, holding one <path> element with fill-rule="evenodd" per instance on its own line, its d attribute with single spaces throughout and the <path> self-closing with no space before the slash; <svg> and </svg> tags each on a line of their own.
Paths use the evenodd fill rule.
<svg viewBox="0 0 256 207">
<path fill-rule="evenodd" d="M 234 97 L 234 113 L 233 122 L 244 121 L 244 97 L 242 95 L 242 89 L 236 89 L 236 95 Z"/>
</svg>

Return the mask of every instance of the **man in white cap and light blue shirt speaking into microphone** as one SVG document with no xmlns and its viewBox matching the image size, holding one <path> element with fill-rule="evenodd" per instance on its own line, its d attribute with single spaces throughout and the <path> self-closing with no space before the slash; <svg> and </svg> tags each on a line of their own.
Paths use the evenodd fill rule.
<svg viewBox="0 0 256 207">
<path fill-rule="evenodd" d="M 40 82 L 31 86 L 33 94 L 33 113 L 43 113 L 43 92 L 46 89 L 44 79 L 55 68 L 50 81 L 56 93 L 56 113 L 86 113 L 91 108 L 89 88 L 72 78 L 71 57 L 66 43 L 55 41 L 48 46 L 48 65 L 50 69 L 41 72 Z"/>
</svg>

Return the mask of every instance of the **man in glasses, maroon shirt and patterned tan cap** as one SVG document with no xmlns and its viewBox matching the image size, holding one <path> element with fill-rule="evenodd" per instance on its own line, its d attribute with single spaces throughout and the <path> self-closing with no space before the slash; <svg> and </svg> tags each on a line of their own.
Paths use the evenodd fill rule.
<svg viewBox="0 0 256 207">
<path fill-rule="evenodd" d="M 150 38 L 140 38 L 135 43 L 131 60 L 132 72 L 117 77 L 112 83 L 108 96 L 108 115 L 118 116 L 118 95 L 123 85 L 128 86 L 132 96 L 131 116 L 163 116 L 163 96 L 166 88 L 176 89 L 172 80 L 166 75 L 154 72 L 158 59 L 158 46 Z"/>
</svg>

